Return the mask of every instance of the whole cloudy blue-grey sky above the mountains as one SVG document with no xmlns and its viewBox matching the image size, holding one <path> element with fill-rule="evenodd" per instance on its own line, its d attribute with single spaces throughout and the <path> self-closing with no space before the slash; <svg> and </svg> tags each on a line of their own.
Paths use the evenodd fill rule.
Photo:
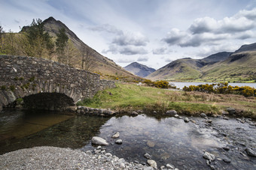
<svg viewBox="0 0 256 170">
<path fill-rule="evenodd" d="M 49 16 L 122 67 L 158 69 L 256 43 L 256 0 L 0 0 L 5 31 Z"/>
</svg>

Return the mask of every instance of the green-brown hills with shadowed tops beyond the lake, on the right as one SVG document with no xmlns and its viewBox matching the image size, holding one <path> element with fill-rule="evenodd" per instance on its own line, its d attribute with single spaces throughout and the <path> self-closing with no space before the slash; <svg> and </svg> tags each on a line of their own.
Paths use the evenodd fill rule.
<svg viewBox="0 0 256 170">
<path fill-rule="evenodd" d="M 169 81 L 254 82 L 256 43 L 243 45 L 233 53 L 218 52 L 203 59 L 178 59 L 146 78 Z"/>
</svg>

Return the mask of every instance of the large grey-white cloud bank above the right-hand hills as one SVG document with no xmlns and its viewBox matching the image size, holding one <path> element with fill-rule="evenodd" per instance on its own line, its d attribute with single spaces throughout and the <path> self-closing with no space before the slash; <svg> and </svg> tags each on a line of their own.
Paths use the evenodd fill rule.
<svg viewBox="0 0 256 170">
<path fill-rule="evenodd" d="M 187 31 L 172 28 L 163 38 L 170 46 L 215 46 L 222 40 L 246 40 L 255 37 L 256 10 L 240 10 L 231 17 L 216 20 L 210 17 L 195 19 Z"/>
</svg>

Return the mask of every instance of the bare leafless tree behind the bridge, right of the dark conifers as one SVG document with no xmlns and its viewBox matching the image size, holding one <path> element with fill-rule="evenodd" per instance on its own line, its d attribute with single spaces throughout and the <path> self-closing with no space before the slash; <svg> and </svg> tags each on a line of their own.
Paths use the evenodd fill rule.
<svg viewBox="0 0 256 170">
<path fill-rule="evenodd" d="M 83 70 L 93 71 L 96 61 L 93 58 L 93 50 L 86 46 L 81 46 L 81 67 Z"/>
</svg>

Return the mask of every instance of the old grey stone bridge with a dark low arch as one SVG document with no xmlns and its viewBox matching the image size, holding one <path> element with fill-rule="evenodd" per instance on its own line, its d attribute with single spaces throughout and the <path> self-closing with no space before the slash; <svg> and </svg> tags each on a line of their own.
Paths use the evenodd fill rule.
<svg viewBox="0 0 256 170">
<path fill-rule="evenodd" d="M 0 110 L 23 98 L 24 106 L 62 110 L 114 82 L 43 58 L 0 55 Z"/>
</svg>

